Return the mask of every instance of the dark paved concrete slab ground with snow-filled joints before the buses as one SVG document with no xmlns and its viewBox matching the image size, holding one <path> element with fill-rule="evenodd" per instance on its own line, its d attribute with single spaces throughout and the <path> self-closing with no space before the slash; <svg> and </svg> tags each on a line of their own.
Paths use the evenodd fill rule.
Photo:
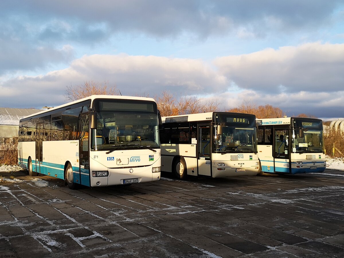
<svg viewBox="0 0 344 258">
<path fill-rule="evenodd" d="M 343 257 L 343 175 L 69 190 L 2 173 L 0 257 Z"/>
</svg>

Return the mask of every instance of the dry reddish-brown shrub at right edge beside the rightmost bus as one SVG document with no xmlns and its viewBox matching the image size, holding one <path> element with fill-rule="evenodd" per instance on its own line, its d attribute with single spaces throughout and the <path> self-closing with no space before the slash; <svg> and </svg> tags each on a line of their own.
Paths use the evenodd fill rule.
<svg viewBox="0 0 344 258">
<path fill-rule="evenodd" d="M 324 134 L 324 143 L 325 143 L 325 149 L 326 149 L 326 155 L 329 155 L 331 157 L 343 157 L 344 155 L 344 132 L 335 129 L 330 128 L 329 133 Z M 335 147 L 342 152 L 340 154 L 337 150 L 334 151 L 333 155 L 333 143 L 335 143 Z"/>
</svg>

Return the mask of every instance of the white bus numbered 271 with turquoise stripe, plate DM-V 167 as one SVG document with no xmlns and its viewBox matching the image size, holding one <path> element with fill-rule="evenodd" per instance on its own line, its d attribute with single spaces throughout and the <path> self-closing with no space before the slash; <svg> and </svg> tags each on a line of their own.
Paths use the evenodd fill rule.
<svg viewBox="0 0 344 258">
<path fill-rule="evenodd" d="M 159 118 L 143 97 L 93 95 L 44 110 L 20 120 L 19 164 L 71 189 L 156 181 Z"/>
</svg>

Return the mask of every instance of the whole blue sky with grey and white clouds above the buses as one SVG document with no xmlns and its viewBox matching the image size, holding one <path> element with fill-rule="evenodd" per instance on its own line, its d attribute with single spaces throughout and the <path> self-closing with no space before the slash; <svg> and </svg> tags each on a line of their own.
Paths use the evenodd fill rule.
<svg viewBox="0 0 344 258">
<path fill-rule="evenodd" d="M 0 1 L 0 107 L 56 107 L 91 80 L 343 118 L 344 1 Z"/>
</svg>

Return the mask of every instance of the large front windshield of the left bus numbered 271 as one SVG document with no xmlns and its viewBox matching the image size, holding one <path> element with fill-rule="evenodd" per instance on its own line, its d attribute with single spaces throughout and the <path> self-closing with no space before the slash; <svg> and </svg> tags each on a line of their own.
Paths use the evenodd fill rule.
<svg viewBox="0 0 344 258">
<path fill-rule="evenodd" d="M 91 130 L 91 150 L 160 148 L 155 103 L 98 100 L 94 107 L 97 129 Z"/>
</svg>

